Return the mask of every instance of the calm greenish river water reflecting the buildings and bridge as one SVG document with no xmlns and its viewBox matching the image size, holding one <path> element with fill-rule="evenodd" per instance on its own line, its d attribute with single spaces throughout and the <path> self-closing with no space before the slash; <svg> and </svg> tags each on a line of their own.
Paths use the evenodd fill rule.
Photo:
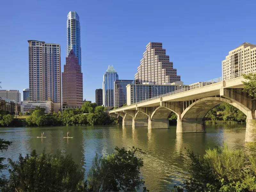
<svg viewBox="0 0 256 192">
<path fill-rule="evenodd" d="M 230 148 L 243 144 L 244 125 L 207 125 L 206 133 L 177 133 L 176 126 L 170 129 L 147 127 L 115 126 L 76 126 L 76 127 L 22 127 L 1 128 L 0 138 L 12 141 L 12 145 L 1 156 L 17 160 L 19 153 L 25 155 L 36 149 L 41 153 L 56 153 L 57 149 L 71 153 L 74 161 L 89 171 L 95 153 L 107 154 L 118 147 L 138 147 L 146 152 L 143 155 L 142 177 L 151 191 L 169 191 L 171 186 L 188 178 L 189 148 L 195 153 L 204 154 L 205 150 L 226 142 Z M 70 132 L 70 137 L 67 132 Z M 36 138 L 41 136 L 47 138 Z M 5 171 L 4 174 L 8 173 Z"/>
</svg>

